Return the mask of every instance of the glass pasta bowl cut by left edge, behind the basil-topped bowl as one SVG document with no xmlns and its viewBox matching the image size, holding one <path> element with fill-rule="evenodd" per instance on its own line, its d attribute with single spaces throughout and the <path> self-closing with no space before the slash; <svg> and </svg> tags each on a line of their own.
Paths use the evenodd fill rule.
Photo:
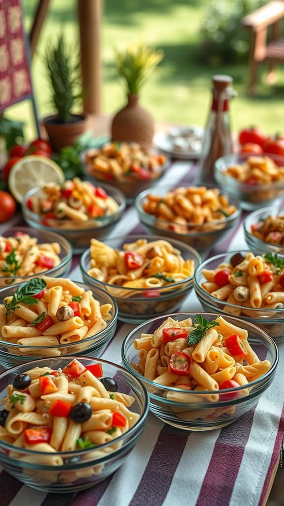
<svg viewBox="0 0 284 506">
<path fill-rule="evenodd" d="M 0 288 L 23 283 L 39 273 L 65 276 L 71 262 L 71 244 L 50 230 L 18 227 L 0 233 Z"/>
</svg>

